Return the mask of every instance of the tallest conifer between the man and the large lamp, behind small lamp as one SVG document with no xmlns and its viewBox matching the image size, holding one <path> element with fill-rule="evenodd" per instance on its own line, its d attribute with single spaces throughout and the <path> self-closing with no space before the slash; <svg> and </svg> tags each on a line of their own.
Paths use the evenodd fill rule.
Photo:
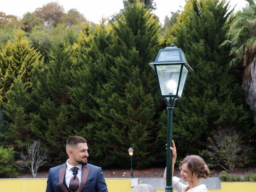
<svg viewBox="0 0 256 192">
<path fill-rule="evenodd" d="M 152 129 L 157 91 L 148 63 L 158 50 L 160 26 L 137 1 L 125 4 L 112 27 L 116 40 L 110 52 L 114 58 L 107 67 L 107 82 L 97 86 L 94 99 L 99 107 L 91 110 L 94 122 L 86 129 L 93 136 L 96 164 L 123 167 L 132 146 L 134 164 L 142 168 L 152 162 L 149 149 L 155 134 Z"/>
</svg>

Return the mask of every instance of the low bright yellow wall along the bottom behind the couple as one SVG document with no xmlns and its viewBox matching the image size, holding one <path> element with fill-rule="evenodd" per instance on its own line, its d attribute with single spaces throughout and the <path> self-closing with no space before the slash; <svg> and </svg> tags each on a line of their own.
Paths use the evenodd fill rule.
<svg viewBox="0 0 256 192">
<path fill-rule="evenodd" d="M 106 179 L 109 192 L 130 192 L 130 179 Z M 0 179 L 0 192 L 45 192 L 46 179 Z M 256 192 L 256 182 L 221 182 L 221 189 L 209 192 Z M 164 192 L 164 190 L 157 190 Z"/>
</svg>

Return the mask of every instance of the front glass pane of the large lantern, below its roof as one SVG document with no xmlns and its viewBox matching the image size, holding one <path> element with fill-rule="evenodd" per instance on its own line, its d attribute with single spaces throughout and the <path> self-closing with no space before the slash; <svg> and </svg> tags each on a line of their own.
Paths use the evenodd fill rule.
<svg viewBox="0 0 256 192">
<path fill-rule="evenodd" d="M 180 64 L 156 66 L 162 96 L 176 95 L 178 80 L 180 76 L 180 68 Z"/>
</svg>

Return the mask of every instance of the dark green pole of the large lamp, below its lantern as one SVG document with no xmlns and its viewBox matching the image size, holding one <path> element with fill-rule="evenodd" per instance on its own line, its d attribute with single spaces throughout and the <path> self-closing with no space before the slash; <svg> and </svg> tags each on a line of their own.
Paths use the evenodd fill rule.
<svg viewBox="0 0 256 192">
<path fill-rule="evenodd" d="M 166 187 L 165 192 L 173 192 L 172 188 L 172 151 L 168 150 L 172 147 L 172 124 L 173 110 L 177 98 L 166 99 L 167 105 L 167 151 L 166 151 Z"/>
</svg>

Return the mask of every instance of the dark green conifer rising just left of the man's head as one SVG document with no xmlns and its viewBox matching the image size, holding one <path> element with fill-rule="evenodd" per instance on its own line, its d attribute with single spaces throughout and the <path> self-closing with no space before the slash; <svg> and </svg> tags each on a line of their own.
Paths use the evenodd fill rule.
<svg viewBox="0 0 256 192">
<path fill-rule="evenodd" d="M 49 62 L 37 68 L 32 78 L 33 131 L 51 149 L 50 156 L 56 164 L 66 159 L 63 140 L 73 136 L 75 130 L 78 130 L 70 114 L 68 94 L 71 68 L 75 65 L 72 54 L 69 44 L 58 42 L 49 54 Z"/>
</svg>

